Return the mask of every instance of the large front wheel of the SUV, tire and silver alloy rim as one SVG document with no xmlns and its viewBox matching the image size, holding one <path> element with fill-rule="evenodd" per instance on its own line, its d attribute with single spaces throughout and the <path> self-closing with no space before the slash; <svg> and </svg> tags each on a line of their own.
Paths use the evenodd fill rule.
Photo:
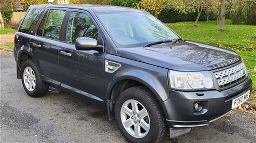
<svg viewBox="0 0 256 143">
<path fill-rule="evenodd" d="M 136 104 L 138 108 L 132 108 L 132 106 L 136 107 Z M 163 111 L 157 98 L 146 87 L 132 87 L 124 90 L 117 98 L 114 110 L 119 130 L 128 141 L 159 142 L 164 139 L 166 122 Z M 140 131 L 136 130 L 140 132 L 139 135 L 135 132 L 135 128 L 140 128 Z"/>
</svg>

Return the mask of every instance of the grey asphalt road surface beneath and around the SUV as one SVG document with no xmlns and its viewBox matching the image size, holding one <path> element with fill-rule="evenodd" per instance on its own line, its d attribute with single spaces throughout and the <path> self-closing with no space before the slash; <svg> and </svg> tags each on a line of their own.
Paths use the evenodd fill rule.
<svg viewBox="0 0 256 143">
<path fill-rule="evenodd" d="M 31 98 L 16 78 L 14 56 L 0 53 L 0 61 L 1 142 L 125 141 L 105 109 L 53 88 L 44 97 Z M 165 141 L 256 142 L 256 116 L 234 110 L 208 126 Z"/>
</svg>

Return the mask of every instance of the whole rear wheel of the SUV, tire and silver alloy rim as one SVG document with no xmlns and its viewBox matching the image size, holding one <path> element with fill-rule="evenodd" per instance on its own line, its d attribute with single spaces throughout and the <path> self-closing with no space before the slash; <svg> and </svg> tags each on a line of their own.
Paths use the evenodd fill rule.
<svg viewBox="0 0 256 143">
<path fill-rule="evenodd" d="M 39 70 L 33 60 L 26 60 L 22 64 L 21 74 L 23 88 L 29 96 L 41 97 L 46 94 L 49 85 L 42 80 Z"/>
</svg>

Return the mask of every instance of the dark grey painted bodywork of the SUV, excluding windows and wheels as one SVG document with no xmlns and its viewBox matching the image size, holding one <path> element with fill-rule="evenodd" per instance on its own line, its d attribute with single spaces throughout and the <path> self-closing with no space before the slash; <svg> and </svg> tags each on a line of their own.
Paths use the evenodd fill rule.
<svg viewBox="0 0 256 143">
<path fill-rule="evenodd" d="M 233 66 L 231 61 L 236 59 L 234 62 L 238 63 L 241 58 L 232 51 L 191 41 L 172 45 L 166 43 L 147 48 L 118 49 L 95 14 L 97 12 L 142 11 L 96 5 L 32 5 L 30 7 L 30 9 L 36 8 L 65 9 L 67 14 L 64 18 L 63 31 L 59 40 L 45 39 L 35 35 L 44 13 L 42 12 L 31 28 L 33 33 L 16 33 L 14 47 L 16 61 L 19 62 L 21 54 L 29 54 L 46 82 L 53 87 L 82 95 L 98 105 L 106 105 L 103 102 L 111 98 L 111 90 L 119 81 L 134 80 L 144 84 L 156 95 L 170 127 L 194 127 L 207 125 L 209 120 L 230 111 L 231 100 L 252 87 L 251 79 L 246 77 L 240 83 L 223 90 L 184 92 L 169 89 L 169 69 L 214 71 L 218 68 Z M 104 52 L 78 51 L 75 45 L 65 42 L 65 26 L 71 10 L 89 15 L 102 36 Z M 35 44 L 41 46 L 33 46 Z M 105 60 L 120 63 L 121 66 L 114 73 L 106 73 L 104 71 Z M 218 64 L 225 66 L 218 67 Z M 17 74 L 19 70 L 18 67 Z M 206 112 L 202 115 L 193 113 L 193 103 L 198 101 L 206 105 Z"/>
</svg>

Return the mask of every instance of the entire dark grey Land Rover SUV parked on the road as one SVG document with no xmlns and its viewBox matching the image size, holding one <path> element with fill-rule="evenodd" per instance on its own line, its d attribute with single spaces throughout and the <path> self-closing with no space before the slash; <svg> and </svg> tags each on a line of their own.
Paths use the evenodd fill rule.
<svg viewBox="0 0 256 143">
<path fill-rule="evenodd" d="M 238 54 L 182 39 L 147 12 L 32 5 L 15 34 L 17 78 L 31 97 L 49 85 L 104 106 L 131 142 L 205 126 L 249 98 Z"/>
</svg>

